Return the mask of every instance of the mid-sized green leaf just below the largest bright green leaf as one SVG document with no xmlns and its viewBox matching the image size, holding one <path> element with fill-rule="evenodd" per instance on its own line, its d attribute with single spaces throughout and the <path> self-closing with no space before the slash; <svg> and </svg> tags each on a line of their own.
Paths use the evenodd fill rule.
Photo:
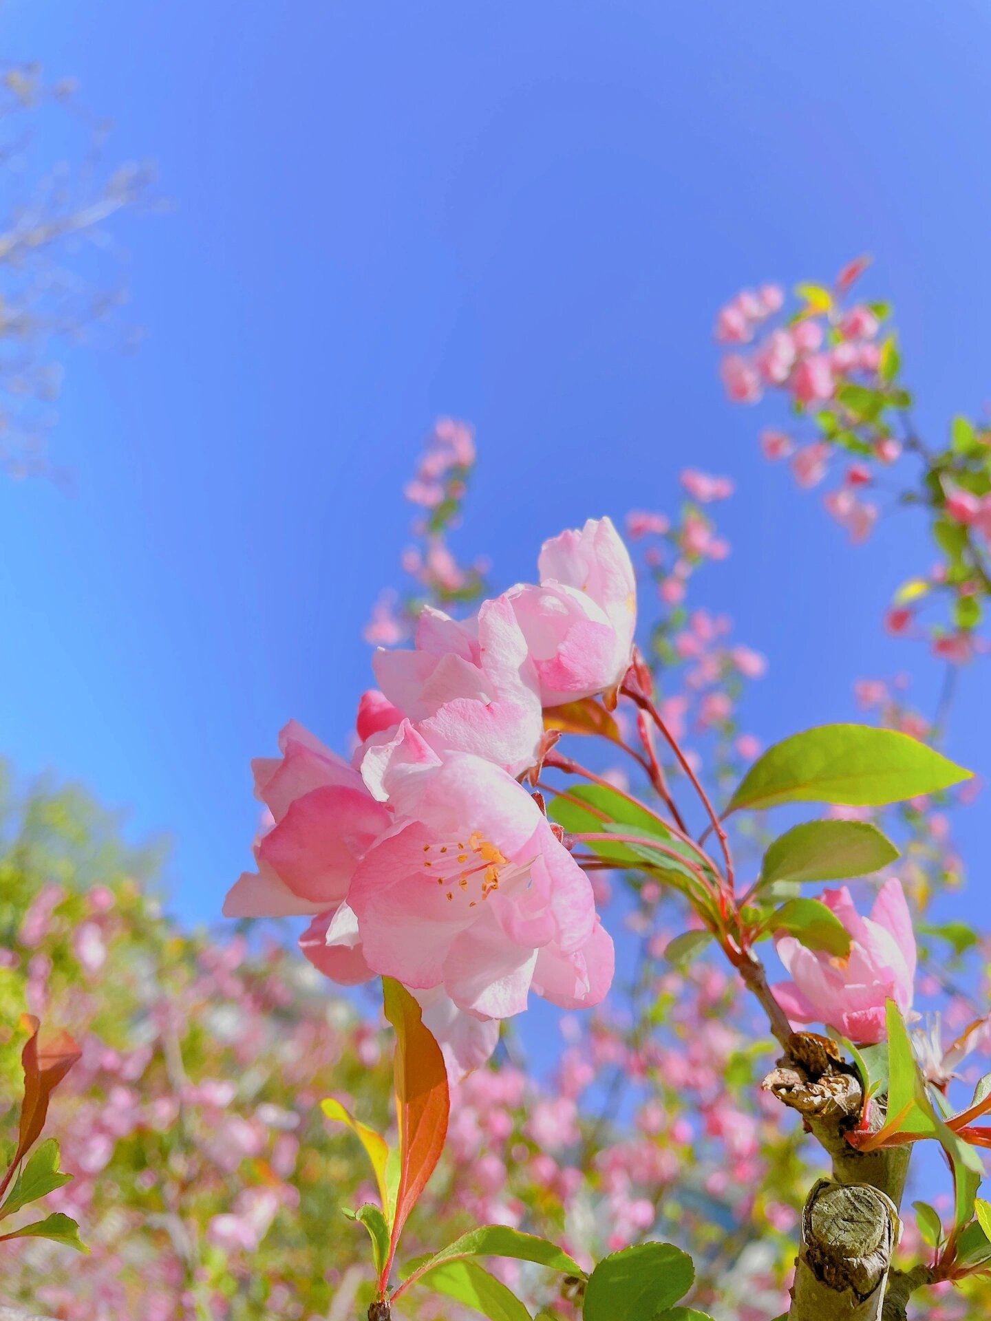
<svg viewBox="0 0 991 1321">
<path fill-rule="evenodd" d="M 805 822 L 776 839 L 764 855 L 761 884 L 867 876 L 897 856 L 888 836 L 867 822 Z"/>
</svg>

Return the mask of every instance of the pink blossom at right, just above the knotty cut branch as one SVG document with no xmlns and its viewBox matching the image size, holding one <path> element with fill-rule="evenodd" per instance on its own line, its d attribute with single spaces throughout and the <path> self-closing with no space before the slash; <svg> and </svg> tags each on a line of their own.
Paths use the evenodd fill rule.
<svg viewBox="0 0 991 1321">
<path fill-rule="evenodd" d="M 793 980 L 780 982 L 774 995 L 793 1022 L 825 1022 L 855 1044 L 883 1041 L 885 1001 L 906 1013 L 916 976 L 916 937 L 901 881 L 885 881 L 869 917 L 860 917 L 846 885 L 822 898 L 850 933 L 850 954 L 838 958 L 806 950 L 791 935 L 777 937 L 778 958 Z"/>
</svg>

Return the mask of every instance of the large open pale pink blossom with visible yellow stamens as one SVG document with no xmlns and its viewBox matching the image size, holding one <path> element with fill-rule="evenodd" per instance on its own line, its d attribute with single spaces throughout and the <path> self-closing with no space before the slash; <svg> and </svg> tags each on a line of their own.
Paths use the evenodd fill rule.
<svg viewBox="0 0 991 1321">
<path fill-rule="evenodd" d="M 470 753 L 437 756 L 406 721 L 382 786 L 395 826 L 348 896 L 373 972 L 443 987 L 484 1018 L 522 1012 L 531 989 L 568 1008 L 603 999 L 612 942 L 588 877 L 519 783 Z"/>
</svg>

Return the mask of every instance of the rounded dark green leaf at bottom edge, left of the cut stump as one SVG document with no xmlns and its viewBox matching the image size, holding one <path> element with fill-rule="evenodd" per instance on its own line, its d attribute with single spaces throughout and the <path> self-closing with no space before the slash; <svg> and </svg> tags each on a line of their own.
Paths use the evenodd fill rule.
<svg viewBox="0 0 991 1321">
<path fill-rule="evenodd" d="M 694 1280 L 691 1258 L 671 1243 L 624 1248 L 588 1277 L 584 1321 L 643 1321 L 683 1299 Z"/>
</svg>

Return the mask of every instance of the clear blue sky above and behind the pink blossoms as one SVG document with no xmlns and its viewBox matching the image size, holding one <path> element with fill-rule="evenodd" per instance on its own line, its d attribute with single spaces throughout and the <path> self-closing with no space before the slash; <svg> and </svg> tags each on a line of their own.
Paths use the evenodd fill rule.
<svg viewBox="0 0 991 1321">
<path fill-rule="evenodd" d="M 932 708 L 937 668 L 879 622 L 921 524 L 850 548 L 760 460 L 711 326 L 869 250 L 922 427 L 980 408 L 984 5 L 8 0 L 0 26 L 176 206 L 123 226 L 148 342 L 67 359 L 78 495 L 0 483 L 0 750 L 172 834 L 184 915 L 248 861 L 283 721 L 344 745 L 439 413 L 477 425 L 461 544 L 502 581 L 563 526 L 670 509 L 686 461 L 731 474 L 700 600 L 770 658 L 765 738 L 850 717 L 858 675 L 917 667 Z M 951 738 L 984 771 L 986 695 L 967 672 Z"/>
</svg>

